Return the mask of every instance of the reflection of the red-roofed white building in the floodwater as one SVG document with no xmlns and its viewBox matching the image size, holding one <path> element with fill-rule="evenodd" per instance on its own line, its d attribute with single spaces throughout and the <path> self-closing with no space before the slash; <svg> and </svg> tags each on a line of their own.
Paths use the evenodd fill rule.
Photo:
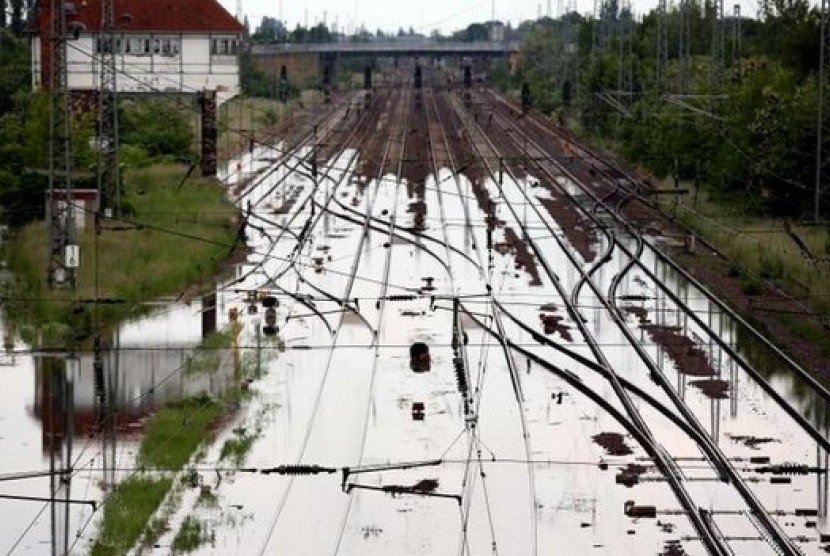
<svg viewBox="0 0 830 556">
<path fill-rule="evenodd" d="M 198 306 L 172 306 L 128 323 L 98 350 L 32 357 L 27 413 L 39 424 L 40 452 L 49 463 L 49 497 L 38 499 L 50 502 L 53 554 L 72 550 L 83 525 L 77 508 L 100 503 L 123 478 L 118 467 L 134 466 L 122 444 L 135 447 L 157 408 L 200 394 L 219 397 L 234 385 L 232 350 L 194 349 L 201 313 Z M 77 484 L 81 478 L 86 486 Z"/>
</svg>

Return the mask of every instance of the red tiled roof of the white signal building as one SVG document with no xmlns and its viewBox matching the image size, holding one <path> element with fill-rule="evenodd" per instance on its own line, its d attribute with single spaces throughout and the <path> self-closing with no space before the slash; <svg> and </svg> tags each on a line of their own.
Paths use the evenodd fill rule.
<svg viewBox="0 0 830 556">
<path fill-rule="evenodd" d="M 206 32 L 241 33 L 239 23 L 216 0 L 114 0 L 115 27 L 124 32 Z M 39 34 L 48 34 L 50 2 L 39 2 Z M 88 31 L 100 29 L 100 0 L 72 0 L 75 14 L 67 11 L 67 23 L 78 21 Z M 71 10 L 71 8 L 70 8 Z"/>
</svg>

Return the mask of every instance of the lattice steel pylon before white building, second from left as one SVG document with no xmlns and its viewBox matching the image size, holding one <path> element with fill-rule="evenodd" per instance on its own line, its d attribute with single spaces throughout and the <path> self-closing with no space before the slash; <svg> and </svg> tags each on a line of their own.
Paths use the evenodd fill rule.
<svg viewBox="0 0 830 556">
<path fill-rule="evenodd" d="M 121 216 L 121 177 L 118 171 L 118 106 L 115 64 L 114 0 L 101 1 L 98 89 L 98 194 L 104 212 Z"/>
</svg>

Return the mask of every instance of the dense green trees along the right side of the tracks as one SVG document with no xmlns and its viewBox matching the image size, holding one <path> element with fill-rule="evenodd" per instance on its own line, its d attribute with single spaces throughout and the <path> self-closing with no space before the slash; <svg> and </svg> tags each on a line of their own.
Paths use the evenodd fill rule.
<svg viewBox="0 0 830 556">
<path fill-rule="evenodd" d="M 760 212 L 807 217 L 820 13 L 806 0 L 767 0 L 757 19 L 728 16 L 713 37 L 715 15 L 706 0 L 691 0 L 685 18 L 671 5 L 659 72 L 656 10 L 638 21 L 605 0 L 599 18 L 545 18 L 523 38 L 516 78 L 529 84 L 537 107 L 575 117 L 659 176 L 699 180 Z"/>
</svg>

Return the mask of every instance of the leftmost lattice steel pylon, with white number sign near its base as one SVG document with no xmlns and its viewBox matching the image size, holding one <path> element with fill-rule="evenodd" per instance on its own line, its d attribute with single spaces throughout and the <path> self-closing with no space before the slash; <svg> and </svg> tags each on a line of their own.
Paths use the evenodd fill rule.
<svg viewBox="0 0 830 556">
<path fill-rule="evenodd" d="M 72 199 L 72 129 L 66 63 L 66 9 L 63 0 L 49 0 L 49 36 L 45 63 L 48 65 L 49 107 L 49 190 L 46 221 L 49 223 L 50 288 L 74 287 L 73 264 L 67 255 L 74 245 L 75 218 Z M 45 6 L 44 6 L 45 7 Z"/>
</svg>

